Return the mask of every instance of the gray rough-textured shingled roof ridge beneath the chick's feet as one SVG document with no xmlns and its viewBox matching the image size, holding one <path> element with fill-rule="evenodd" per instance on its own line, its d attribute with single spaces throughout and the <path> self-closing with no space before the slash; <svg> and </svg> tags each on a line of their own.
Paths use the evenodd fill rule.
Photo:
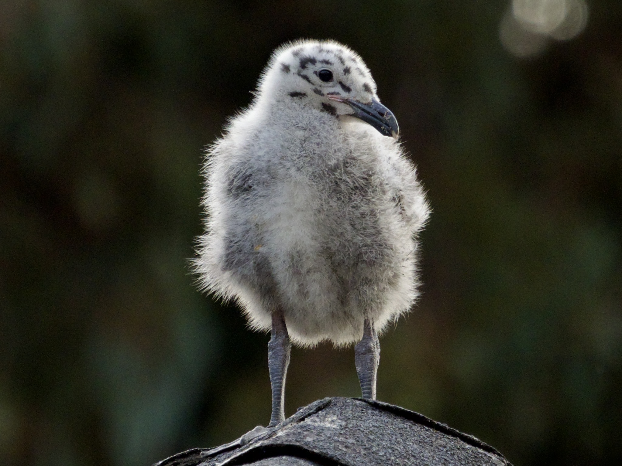
<svg viewBox="0 0 622 466">
<path fill-rule="evenodd" d="M 493 447 L 421 414 L 379 401 L 325 398 L 279 426 L 215 449 L 193 449 L 157 466 L 508 465 Z"/>
</svg>

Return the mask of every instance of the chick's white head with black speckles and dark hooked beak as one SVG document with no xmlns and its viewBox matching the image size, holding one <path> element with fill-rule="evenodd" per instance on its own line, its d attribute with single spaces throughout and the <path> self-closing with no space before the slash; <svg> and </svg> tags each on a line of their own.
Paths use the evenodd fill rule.
<svg viewBox="0 0 622 466">
<path fill-rule="evenodd" d="M 258 105 L 295 104 L 355 116 L 384 135 L 397 135 L 393 114 L 380 104 L 376 83 L 356 52 L 331 40 L 300 40 L 272 55 L 258 89 Z"/>
</svg>

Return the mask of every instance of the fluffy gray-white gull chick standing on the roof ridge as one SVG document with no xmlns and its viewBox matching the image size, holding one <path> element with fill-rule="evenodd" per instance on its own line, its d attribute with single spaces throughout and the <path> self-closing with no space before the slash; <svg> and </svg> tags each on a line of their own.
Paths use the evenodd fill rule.
<svg viewBox="0 0 622 466">
<path fill-rule="evenodd" d="M 355 346 L 376 397 L 378 333 L 417 297 L 417 234 L 429 214 L 361 57 L 333 41 L 272 54 L 248 109 L 207 150 L 196 272 L 270 330 L 269 426 L 284 420 L 290 342 Z"/>
</svg>

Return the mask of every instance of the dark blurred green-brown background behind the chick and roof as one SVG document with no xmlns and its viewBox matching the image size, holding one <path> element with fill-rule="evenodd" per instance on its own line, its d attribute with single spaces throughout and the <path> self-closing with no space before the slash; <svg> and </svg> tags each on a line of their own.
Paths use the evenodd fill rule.
<svg viewBox="0 0 622 466">
<path fill-rule="evenodd" d="M 620 0 L 0 1 L 0 464 L 149 465 L 270 411 L 195 290 L 198 169 L 299 37 L 359 52 L 434 208 L 380 400 L 517 466 L 622 464 Z M 286 414 L 360 396 L 294 350 Z"/>
</svg>

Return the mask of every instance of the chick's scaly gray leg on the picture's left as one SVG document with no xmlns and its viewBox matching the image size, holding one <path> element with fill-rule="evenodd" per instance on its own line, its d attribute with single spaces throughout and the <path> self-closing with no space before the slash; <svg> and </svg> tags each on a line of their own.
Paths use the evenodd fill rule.
<svg viewBox="0 0 622 466">
<path fill-rule="evenodd" d="M 285 420 L 285 375 L 289 365 L 291 344 L 283 313 L 277 309 L 272 314 L 272 336 L 268 343 L 268 370 L 272 385 L 272 415 L 268 427 Z"/>
</svg>

